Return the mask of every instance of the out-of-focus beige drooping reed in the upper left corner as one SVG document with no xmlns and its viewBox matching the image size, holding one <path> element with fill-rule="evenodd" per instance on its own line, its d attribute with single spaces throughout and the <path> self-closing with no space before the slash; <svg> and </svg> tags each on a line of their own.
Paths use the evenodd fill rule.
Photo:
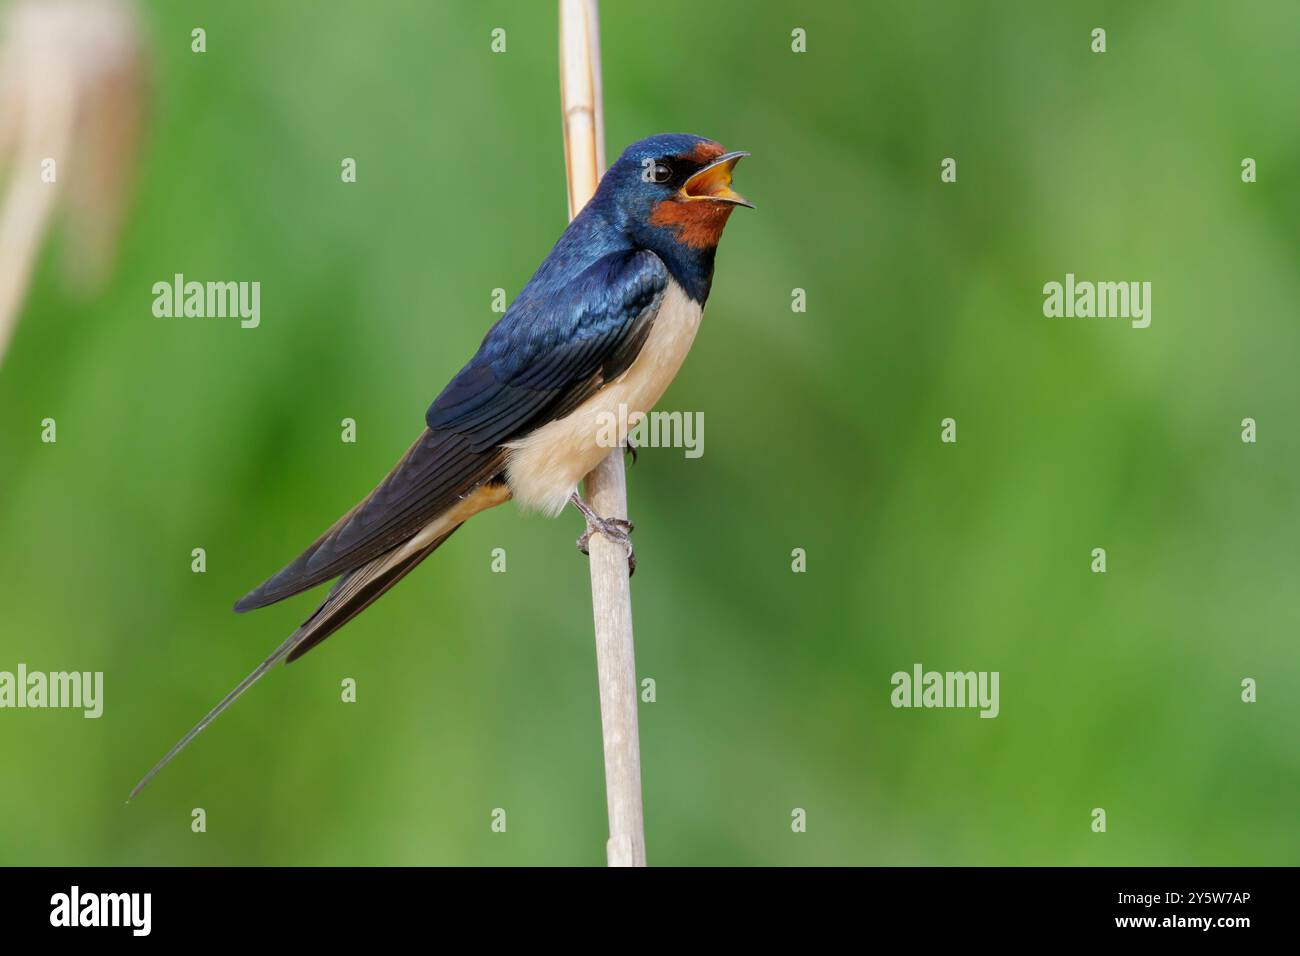
<svg viewBox="0 0 1300 956">
<path fill-rule="evenodd" d="M 70 284 L 86 291 L 108 274 L 146 99 L 129 0 L 18 0 L 3 14 L 0 360 L 60 203 Z"/>
</svg>

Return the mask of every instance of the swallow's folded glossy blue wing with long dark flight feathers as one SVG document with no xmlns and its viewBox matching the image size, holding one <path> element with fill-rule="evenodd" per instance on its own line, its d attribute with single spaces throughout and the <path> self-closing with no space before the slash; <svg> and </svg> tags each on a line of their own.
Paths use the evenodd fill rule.
<svg viewBox="0 0 1300 956">
<path fill-rule="evenodd" d="M 504 442 L 563 418 L 632 364 L 667 285 L 663 261 L 644 250 L 610 252 L 563 281 L 538 271 L 434 399 L 428 428 L 387 477 L 235 610 L 360 567 L 498 476 Z"/>
</svg>

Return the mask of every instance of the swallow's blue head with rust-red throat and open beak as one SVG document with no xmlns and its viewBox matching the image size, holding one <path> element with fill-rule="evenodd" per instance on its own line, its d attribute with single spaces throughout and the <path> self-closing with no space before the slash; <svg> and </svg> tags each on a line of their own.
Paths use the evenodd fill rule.
<svg viewBox="0 0 1300 956">
<path fill-rule="evenodd" d="M 597 199 L 647 248 L 711 254 L 732 209 L 753 208 L 731 187 L 732 170 L 748 155 L 685 133 L 650 137 L 615 160 Z"/>
</svg>

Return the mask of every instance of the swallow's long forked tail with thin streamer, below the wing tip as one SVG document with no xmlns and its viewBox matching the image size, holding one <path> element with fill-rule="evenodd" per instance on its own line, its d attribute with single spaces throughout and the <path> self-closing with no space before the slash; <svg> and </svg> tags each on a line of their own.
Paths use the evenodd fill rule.
<svg viewBox="0 0 1300 956">
<path fill-rule="evenodd" d="M 448 531 L 443 528 L 434 529 L 430 525 L 426 532 L 416 535 L 406 544 L 381 554 L 355 571 L 350 571 L 339 578 L 324 604 L 296 631 L 289 635 L 285 643 L 270 653 L 270 657 L 257 665 L 252 674 L 240 680 L 230 693 L 221 698 L 217 706 L 212 708 L 183 737 L 177 740 L 176 745 L 162 754 L 162 760 L 155 763 L 153 769 L 140 778 L 140 782 L 131 790 L 126 801 L 130 803 L 134 800 L 135 795 L 144 790 L 146 784 L 157 777 L 162 767 L 188 747 L 190 741 L 199 736 L 209 723 L 221 717 L 226 708 L 239 700 L 244 691 L 261 680 L 266 671 L 283 659 L 296 661 L 338 628 L 343 627 L 343 624 L 374 604 L 389 588 L 406 578 L 416 564 L 428 558 L 459 527 L 459 522 L 452 524 Z M 428 532 L 433 531 L 437 531 L 437 533 L 430 540 Z"/>
</svg>

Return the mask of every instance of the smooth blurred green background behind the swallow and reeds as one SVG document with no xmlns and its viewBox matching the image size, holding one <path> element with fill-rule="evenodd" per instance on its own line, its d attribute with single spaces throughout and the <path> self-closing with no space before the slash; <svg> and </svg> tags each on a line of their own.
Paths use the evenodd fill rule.
<svg viewBox="0 0 1300 956">
<path fill-rule="evenodd" d="M 629 476 L 650 862 L 1300 862 L 1300 8 L 602 16 L 611 156 L 714 137 L 758 206 L 660 405 L 705 455 Z M 318 592 L 231 602 L 387 471 L 566 220 L 551 3 L 144 21 L 117 269 L 73 298 L 56 230 L 0 367 L 0 670 L 105 672 L 99 721 L 0 711 L 0 862 L 603 862 L 572 512 L 473 520 L 124 806 Z M 261 326 L 155 319 L 176 272 L 260 281 Z M 1150 281 L 1150 328 L 1045 319 L 1066 272 Z M 914 662 L 1000 671 L 1001 715 L 893 709 Z"/>
</svg>

